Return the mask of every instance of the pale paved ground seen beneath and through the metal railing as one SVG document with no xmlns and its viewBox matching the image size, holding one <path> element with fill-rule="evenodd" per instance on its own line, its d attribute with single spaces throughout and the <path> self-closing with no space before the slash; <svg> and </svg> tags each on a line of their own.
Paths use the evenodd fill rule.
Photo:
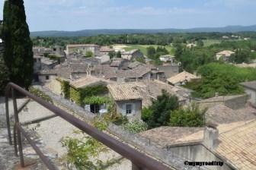
<svg viewBox="0 0 256 170">
<path fill-rule="evenodd" d="M 24 102 L 25 99 L 18 99 L 18 105 Z M 12 116 L 12 102 L 10 100 L 9 104 L 10 115 Z M 48 109 L 43 108 L 43 106 L 37 104 L 36 102 L 29 102 L 26 109 L 24 109 L 20 115 L 20 121 L 30 121 L 36 118 L 42 118 L 47 115 L 53 115 L 53 112 L 50 112 Z M 14 165 L 19 162 L 19 159 L 14 156 L 13 146 L 8 145 L 7 130 L 5 128 L 5 103 L 3 99 L 0 98 L 0 117 L 2 123 L 0 122 L 1 133 L 0 133 L 0 170 L 5 169 L 13 169 Z M 37 141 L 37 146 L 42 149 L 43 153 L 46 154 L 50 159 L 56 160 L 65 156 L 66 149 L 62 147 L 60 141 L 62 137 L 79 137 L 78 134 L 74 134 L 74 131 L 78 129 L 69 124 L 62 118 L 56 117 L 51 118 L 47 121 L 42 121 L 39 124 L 31 124 L 26 127 L 26 131 L 30 133 L 30 136 L 33 137 L 35 141 Z M 38 157 L 34 150 L 29 146 L 24 146 L 24 155 L 27 157 L 27 161 L 36 160 L 37 164 L 33 166 L 33 168 L 27 169 L 44 169 L 42 163 L 38 162 Z M 107 165 L 104 169 L 108 170 L 130 170 L 131 163 L 127 159 L 121 158 L 114 151 L 101 153 L 100 159 L 102 161 L 107 161 L 108 159 L 117 159 L 113 164 Z M 59 169 L 66 169 L 64 167 L 60 167 Z"/>
</svg>

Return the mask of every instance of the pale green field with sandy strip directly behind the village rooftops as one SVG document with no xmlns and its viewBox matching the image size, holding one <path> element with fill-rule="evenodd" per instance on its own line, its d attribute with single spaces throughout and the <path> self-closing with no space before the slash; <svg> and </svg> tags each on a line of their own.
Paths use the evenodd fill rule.
<svg viewBox="0 0 256 170">
<path fill-rule="evenodd" d="M 120 47 L 120 45 L 114 45 L 114 46 L 118 46 Z M 132 49 L 140 49 L 140 51 L 144 54 L 146 54 L 146 48 L 148 48 L 149 46 L 153 46 L 155 47 L 155 49 L 158 47 L 157 45 L 133 45 L 133 44 L 124 44 L 121 45 L 123 46 L 123 49 L 126 51 L 130 51 Z M 174 55 L 174 48 L 171 46 L 165 46 L 165 48 L 168 50 L 168 52 L 170 52 L 171 55 Z"/>
</svg>

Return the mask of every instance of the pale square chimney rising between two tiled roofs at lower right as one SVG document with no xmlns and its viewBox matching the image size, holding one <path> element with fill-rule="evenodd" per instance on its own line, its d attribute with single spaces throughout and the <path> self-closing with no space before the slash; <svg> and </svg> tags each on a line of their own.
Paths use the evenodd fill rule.
<svg viewBox="0 0 256 170">
<path fill-rule="evenodd" d="M 219 131 L 216 124 L 207 123 L 203 134 L 203 144 L 210 150 L 215 150 L 219 145 Z"/>
</svg>

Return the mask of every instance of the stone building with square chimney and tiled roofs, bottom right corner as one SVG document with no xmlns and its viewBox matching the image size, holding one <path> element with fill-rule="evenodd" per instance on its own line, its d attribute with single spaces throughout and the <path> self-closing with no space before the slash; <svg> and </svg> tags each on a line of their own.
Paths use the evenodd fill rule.
<svg viewBox="0 0 256 170">
<path fill-rule="evenodd" d="M 190 162 L 222 162 L 212 170 L 255 169 L 256 121 L 208 124 L 205 128 L 160 127 L 142 136 Z M 203 168 L 203 167 L 202 167 Z"/>
</svg>

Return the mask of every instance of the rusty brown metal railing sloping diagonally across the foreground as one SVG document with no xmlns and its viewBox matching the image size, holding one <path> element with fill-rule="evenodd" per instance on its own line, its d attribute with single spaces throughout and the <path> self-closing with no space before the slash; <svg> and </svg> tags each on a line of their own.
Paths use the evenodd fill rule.
<svg viewBox="0 0 256 170">
<path fill-rule="evenodd" d="M 125 157 L 126 159 L 130 159 L 130 161 L 132 162 L 133 170 L 135 169 L 136 170 L 137 169 L 138 170 L 139 169 L 148 169 L 148 170 L 169 169 L 170 170 L 171 169 L 167 165 L 164 165 L 162 162 L 158 162 L 156 159 L 152 159 L 151 157 L 146 156 L 143 153 L 140 153 L 138 150 L 135 150 L 133 147 L 128 146 L 127 144 L 122 143 L 119 140 L 116 140 L 107 134 L 104 134 L 103 132 L 99 131 L 97 128 L 94 128 L 90 124 L 87 124 L 85 121 L 75 118 L 75 116 L 70 115 L 68 112 L 63 111 L 62 109 L 59 109 L 58 107 L 51 104 L 50 102 L 44 101 L 40 97 L 34 96 L 27 90 L 24 90 L 23 88 L 19 87 L 14 83 L 8 83 L 8 86 L 6 87 L 6 90 L 5 90 L 6 121 L 7 121 L 7 128 L 8 128 L 8 141 L 10 145 L 12 144 L 9 107 L 8 107 L 8 97 L 9 97 L 10 91 L 13 99 L 14 121 L 15 121 L 14 122 L 14 152 L 15 152 L 15 156 L 18 156 L 18 153 L 19 153 L 22 167 L 24 167 L 25 164 L 24 164 L 21 135 L 22 137 L 25 137 L 27 139 L 27 142 L 30 143 L 30 145 L 34 148 L 37 155 L 40 156 L 40 159 L 43 161 L 43 163 L 46 165 L 47 168 L 49 168 L 50 170 L 57 169 L 56 166 L 53 165 L 53 162 L 51 162 L 50 159 L 48 159 L 46 156 L 43 155 L 43 153 L 40 151 L 40 149 L 36 145 L 35 141 L 30 139 L 27 132 L 24 131 L 24 129 L 21 127 L 22 124 L 19 121 L 18 113 L 21 112 L 21 110 L 25 107 L 25 105 L 27 105 L 30 99 L 33 99 L 35 102 L 39 103 L 40 105 L 43 105 L 46 109 L 49 109 L 56 116 L 59 116 L 60 118 L 65 119 L 70 124 L 74 125 L 76 128 L 80 129 L 81 131 L 85 132 L 91 137 L 94 137 L 94 139 L 100 141 L 105 146 L 119 153 L 121 156 Z M 24 102 L 20 106 L 20 108 L 18 108 L 17 106 L 17 98 L 15 96 L 16 91 L 29 98 L 26 102 Z M 46 120 L 53 117 L 54 115 L 48 116 L 46 118 L 40 118 L 38 120 L 34 120 L 30 122 L 25 122 L 24 124 L 30 124 L 30 123 Z"/>
</svg>

